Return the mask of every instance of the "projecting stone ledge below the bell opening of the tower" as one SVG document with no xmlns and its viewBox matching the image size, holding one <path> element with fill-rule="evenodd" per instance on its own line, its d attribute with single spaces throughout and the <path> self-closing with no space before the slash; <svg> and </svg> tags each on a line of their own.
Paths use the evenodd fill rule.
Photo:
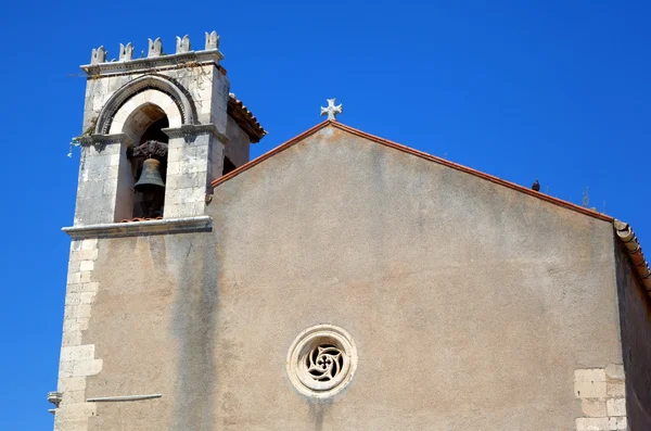
<svg viewBox="0 0 651 431">
<path fill-rule="evenodd" d="M 74 240 L 87 238 L 117 238 L 142 234 L 166 234 L 182 232 L 207 232 L 213 230 L 213 217 L 196 216 L 182 218 L 163 218 L 159 220 L 106 223 L 89 226 L 62 228 Z"/>
</svg>

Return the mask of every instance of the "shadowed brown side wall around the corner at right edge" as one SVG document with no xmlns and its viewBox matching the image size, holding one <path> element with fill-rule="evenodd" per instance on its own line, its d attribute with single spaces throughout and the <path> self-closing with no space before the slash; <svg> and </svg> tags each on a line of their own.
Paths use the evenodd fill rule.
<svg viewBox="0 0 651 431">
<path fill-rule="evenodd" d="M 622 246 L 616 261 L 628 423 L 651 430 L 651 304 Z"/>
</svg>

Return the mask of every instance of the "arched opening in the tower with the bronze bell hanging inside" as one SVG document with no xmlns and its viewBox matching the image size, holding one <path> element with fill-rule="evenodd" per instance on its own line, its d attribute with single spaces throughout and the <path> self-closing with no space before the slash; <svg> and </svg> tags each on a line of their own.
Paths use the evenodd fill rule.
<svg viewBox="0 0 651 431">
<path fill-rule="evenodd" d="M 131 219 L 162 218 L 167 179 L 169 127 L 165 112 L 153 103 L 137 109 L 125 122 L 124 132 L 135 144 L 127 153 L 132 183 Z"/>
</svg>

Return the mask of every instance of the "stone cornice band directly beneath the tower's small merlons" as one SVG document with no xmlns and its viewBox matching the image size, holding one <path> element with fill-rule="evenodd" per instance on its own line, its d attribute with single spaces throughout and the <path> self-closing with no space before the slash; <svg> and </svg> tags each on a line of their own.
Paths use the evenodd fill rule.
<svg viewBox="0 0 651 431">
<path fill-rule="evenodd" d="M 119 75 L 124 73 L 151 73 L 152 69 L 166 69 L 175 67 L 188 67 L 189 65 L 219 65 L 224 54 L 218 50 L 190 51 L 178 54 L 166 54 L 158 56 L 148 56 L 128 61 L 112 61 L 98 64 L 86 64 L 81 71 L 86 72 L 88 77 L 101 77 Z"/>
</svg>

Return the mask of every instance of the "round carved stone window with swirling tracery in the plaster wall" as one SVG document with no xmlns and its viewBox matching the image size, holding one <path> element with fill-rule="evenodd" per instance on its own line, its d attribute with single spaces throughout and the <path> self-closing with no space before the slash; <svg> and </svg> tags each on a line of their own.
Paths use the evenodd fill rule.
<svg viewBox="0 0 651 431">
<path fill-rule="evenodd" d="M 288 354 L 288 373 L 298 392 L 323 398 L 348 384 L 357 366 L 350 334 L 332 325 L 317 325 L 296 337 Z"/>
</svg>

